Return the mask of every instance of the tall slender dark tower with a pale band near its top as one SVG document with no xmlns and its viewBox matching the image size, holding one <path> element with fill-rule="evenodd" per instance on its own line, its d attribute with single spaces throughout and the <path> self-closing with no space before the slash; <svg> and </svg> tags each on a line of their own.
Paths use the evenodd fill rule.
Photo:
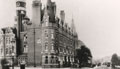
<svg viewBox="0 0 120 69">
<path fill-rule="evenodd" d="M 25 0 L 16 0 L 16 17 L 17 17 L 17 54 L 21 54 L 21 40 L 20 32 L 23 32 L 22 20 L 26 16 L 26 2 Z"/>
</svg>

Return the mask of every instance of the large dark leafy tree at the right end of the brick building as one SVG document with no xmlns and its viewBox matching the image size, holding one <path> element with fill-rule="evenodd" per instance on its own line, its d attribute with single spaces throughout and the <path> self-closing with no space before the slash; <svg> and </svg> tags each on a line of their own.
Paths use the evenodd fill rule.
<svg viewBox="0 0 120 69">
<path fill-rule="evenodd" d="M 86 46 L 81 46 L 80 49 L 76 50 L 76 58 L 79 61 L 79 67 L 87 67 L 90 65 L 92 54 L 89 48 Z"/>
</svg>

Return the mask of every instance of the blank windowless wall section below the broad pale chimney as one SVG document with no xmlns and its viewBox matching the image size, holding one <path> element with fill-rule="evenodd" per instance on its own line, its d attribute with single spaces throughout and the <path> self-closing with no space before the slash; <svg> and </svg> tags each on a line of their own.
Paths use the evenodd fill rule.
<svg viewBox="0 0 120 69">
<path fill-rule="evenodd" d="M 31 28 L 28 31 L 28 64 L 41 65 L 41 28 Z"/>
</svg>

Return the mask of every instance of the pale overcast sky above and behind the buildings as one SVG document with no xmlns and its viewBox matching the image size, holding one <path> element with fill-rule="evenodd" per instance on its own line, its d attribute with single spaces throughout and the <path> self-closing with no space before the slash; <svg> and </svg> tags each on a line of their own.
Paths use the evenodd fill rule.
<svg viewBox="0 0 120 69">
<path fill-rule="evenodd" d="M 27 0 L 30 18 L 31 1 Z M 67 23 L 71 23 L 73 15 L 79 39 L 91 49 L 94 58 L 120 55 L 120 0 L 53 1 L 58 13 L 65 10 Z M 15 14 L 15 0 L 0 0 L 0 27 L 13 26 Z"/>
</svg>

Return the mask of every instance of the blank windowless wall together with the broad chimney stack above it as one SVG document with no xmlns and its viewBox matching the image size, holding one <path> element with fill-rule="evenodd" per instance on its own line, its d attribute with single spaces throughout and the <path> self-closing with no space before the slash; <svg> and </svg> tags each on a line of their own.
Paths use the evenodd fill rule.
<svg viewBox="0 0 120 69">
<path fill-rule="evenodd" d="M 41 1 L 32 2 L 32 28 L 29 28 L 28 39 L 28 65 L 41 66 Z"/>
</svg>

